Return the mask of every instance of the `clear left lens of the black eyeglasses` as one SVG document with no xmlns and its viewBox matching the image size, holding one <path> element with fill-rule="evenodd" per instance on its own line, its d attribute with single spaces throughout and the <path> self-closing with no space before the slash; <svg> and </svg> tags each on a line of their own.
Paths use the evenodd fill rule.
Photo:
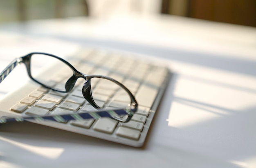
<svg viewBox="0 0 256 168">
<path fill-rule="evenodd" d="M 65 91 L 65 83 L 73 75 L 72 69 L 61 60 L 44 54 L 31 56 L 31 76 L 48 87 Z M 42 74 L 39 74 L 43 72 Z"/>
</svg>

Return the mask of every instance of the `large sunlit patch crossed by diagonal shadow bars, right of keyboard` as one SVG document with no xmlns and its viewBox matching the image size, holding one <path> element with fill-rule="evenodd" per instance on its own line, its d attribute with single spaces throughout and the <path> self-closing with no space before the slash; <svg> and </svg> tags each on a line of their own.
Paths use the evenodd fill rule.
<svg viewBox="0 0 256 168">
<path fill-rule="evenodd" d="M 240 74 L 204 68 L 201 71 L 197 69 L 194 73 L 189 72 L 191 74 L 179 74 L 173 90 L 168 126 L 185 127 L 243 113 L 255 106 L 255 77 L 242 78 Z"/>
</svg>

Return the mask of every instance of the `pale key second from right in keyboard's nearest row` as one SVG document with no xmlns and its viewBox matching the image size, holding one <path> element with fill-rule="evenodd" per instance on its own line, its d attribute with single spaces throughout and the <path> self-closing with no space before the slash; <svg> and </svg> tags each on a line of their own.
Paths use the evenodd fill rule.
<svg viewBox="0 0 256 168">
<path fill-rule="evenodd" d="M 93 129 L 100 132 L 112 134 L 117 126 L 117 121 L 110 118 L 100 118 Z"/>
</svg>

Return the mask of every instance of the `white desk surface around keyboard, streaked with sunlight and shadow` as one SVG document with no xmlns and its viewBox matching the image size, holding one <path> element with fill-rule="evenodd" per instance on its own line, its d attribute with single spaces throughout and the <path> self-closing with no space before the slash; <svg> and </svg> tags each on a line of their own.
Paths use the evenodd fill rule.
<svg viewBox="0 0 256 168">
<path fill-rule="evenodd" d="M 0 69 L 13 57 L 65 55 L 80 44 L 146 54 L 172 69 L 144 147 L 7 123 L 1 168 L 256 167 L 256 28 L 174 16 L 8 23 L 0 25 Z M 0 96 L 26 75 L 12 72 Z"/>
</svg>

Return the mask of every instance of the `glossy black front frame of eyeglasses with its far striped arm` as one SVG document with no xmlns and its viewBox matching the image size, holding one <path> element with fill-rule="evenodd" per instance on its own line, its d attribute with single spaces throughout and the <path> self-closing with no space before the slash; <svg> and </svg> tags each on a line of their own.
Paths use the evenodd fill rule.
<svg viewBox="0 0 256 168">
<path fill-rule="evenodd" d="M 70 67 L 70 69 L 72 69 L 72 72 L 73 72 L 73 75 L 67 80 L 67 82 L 65 83 L 65 91 L 61 91 L 61 90 L 56 90 L 52 87 L 49 87 L 43 83 L 41 83 L 40 81 L 36 80 L 32 75 L 31 75 L 31 56 L 33 56 L 34 54 L 42 54 L 42 55 L 47 55 L 47 56 L 51 56 L 51 57 L 54 57 L 58 60 L 61 60 L 63 63 L 65 63 L 68 67 Z M 112 81 L 114 82 L 115 84 L 119 85 L 121 88 L 123 88 L 127 93 L 128 95 L 130 96 L 130 111 L 126 110 L 127 114 L 128 114 L 128 117 L 126 117 L 126 119 L 122 119 L 122 118 L 119 118 L 117 116 L 111 116 L 112 119 L 115 119 L 117 121 L 121 121 L 121 122 L 128 122 L 130 121 L 132 115 L 137 111 L 138 109 L 138 103 L 135 99 L 135 97 L 133 96 L 133 94 L 130 92 L 130 90 L 128 90 L 127 87 L 125 87 L 122 83 L 116 81 L 115 79 L 113 78 L 110 78 L 108 76 L 103 76 L 103 75 L 86 75 L 86 74 L 83 74 L 81 72 L 79 72 L 78 70 L 75 69 L 75 67 L 73 67 L 73 65 L 71 65 L 70 63 L 68 63 L 66 60 L 64 60 L 63 58 L 60 58 L 58 56 L 55 56 L 53 54 L 48 54 L 48 53 L 43 53 L 43 52 L 32 52 L 32 53 L 29 53 L 25 56 L 22 56 L 20 58 L 16 58 L 15 60 L 12 61 L 11 64 L 9 64 L 9 66 L 7 68 L 4 69 L 4 71 L 2 72 L 2 74 L 0 74 L 0 83 L 4 80 L 4 78 L 6 78 L 6 76 L 9 74 L 9 72 L 11 72 L 13 70 L 14 67 L 16 67 L 16 65 L 18 63 L 24 63 L 26 68 L 27 68 L 27 73 L 29 75 L 29 77 L 35 81 L 36 83 L 42 85 L 43 87 L 46 87 L 48 89 L 51 89 L 51 90 L 54 90 L 54 91 L 57 91 L 57 92 L 63 92 L 63 93 L 66 93 L 66 92 L 70 92 L 73 88 L 74 88 L 74 85 L 77 81 L 78 78 L 83 78 L 85 79 L 85 83 L 83 85 L 83 88 L 82 88 L 82 94 L 84 96 L 84 98 L 88 101 L 88 103 L 90 103 L 90 105 L 92 105 L 94 108 L 96 109 L 101 109 L 93 100 L 93 97 L 92 97 L 92 88 L 91 88 L 91 79 L 92 78 L 103 78 L 103 79 L 106 79 L 106 80 L 109 80 L 109 81 Z M 1 78 L 2 77 L 2 78 Z"/>
</svg>

